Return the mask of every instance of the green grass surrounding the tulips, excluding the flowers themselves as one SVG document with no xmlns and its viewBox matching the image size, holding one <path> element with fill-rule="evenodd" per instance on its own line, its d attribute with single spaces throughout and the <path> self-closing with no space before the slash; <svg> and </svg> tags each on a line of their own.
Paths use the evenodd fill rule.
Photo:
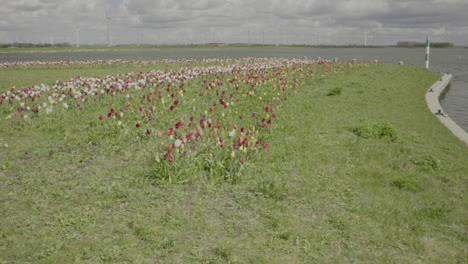
<svg viewBox="0 0 468 264">
<path fill-rule="evenodd" d="M 151 67 L 0 70 L 0 87 Z M 2 116 L 0 260 L 463 263 L 468 149 L 426 109 L 438 77 L 367 65 L 303 79 L 236 182 L 155 181 L 145 144 L 77 140 L 96 129 L 69 120 L 96 113 Z"/>
</svg>

